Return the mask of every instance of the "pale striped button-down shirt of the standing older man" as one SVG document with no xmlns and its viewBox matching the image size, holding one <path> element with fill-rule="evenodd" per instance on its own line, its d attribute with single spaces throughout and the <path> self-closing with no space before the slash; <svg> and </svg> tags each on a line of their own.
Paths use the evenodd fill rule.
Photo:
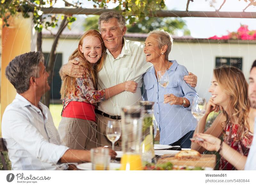
<svg viewBox="0 0 256 186">
<path fill-rule="evenodd" d="M 122 107 L 135 105 L 142 100 L 142 75 L 153 66 L 146 62 L 143 45 L 124 39 L 121 54 L 115 59 L 107 49 L 104 66 L 98 74 L 98 89 L 106 89 L 125 81 L 135 81 L 138 88 L 135 93 L 124 91 L 98 104 L 98 109 L 110 115 L 121 115 Z"/>
</svg>

